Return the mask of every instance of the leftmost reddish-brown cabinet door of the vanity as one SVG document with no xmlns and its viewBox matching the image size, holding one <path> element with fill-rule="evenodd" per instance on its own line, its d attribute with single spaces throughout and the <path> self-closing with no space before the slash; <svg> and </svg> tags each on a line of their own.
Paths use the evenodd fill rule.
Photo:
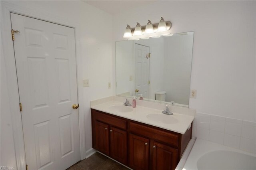
<svg viewBox="0 0 256 170">
<path fill-rule="evenodd" d="M 108 155 L 108 125 L 95 122 L 95 149 Z"/>
</svg>

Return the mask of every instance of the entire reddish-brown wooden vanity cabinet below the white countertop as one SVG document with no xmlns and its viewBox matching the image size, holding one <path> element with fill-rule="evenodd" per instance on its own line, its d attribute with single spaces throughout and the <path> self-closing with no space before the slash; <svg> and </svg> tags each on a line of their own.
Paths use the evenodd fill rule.
<svg viewBox="0 0 256 170">
<path fill-rule="evenodd" d="M 92 147 L 134 170 L 175 170 L 191 135 L 92 109 Z"/>
</svg>

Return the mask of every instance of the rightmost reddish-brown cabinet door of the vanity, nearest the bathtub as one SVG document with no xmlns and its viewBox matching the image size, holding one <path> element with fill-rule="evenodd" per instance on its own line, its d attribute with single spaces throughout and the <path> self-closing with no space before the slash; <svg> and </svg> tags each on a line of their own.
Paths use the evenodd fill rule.
<svg viewBox="0 0 256 170">
<path fill-rule="evenodd" d="M 153 142 L 153 170 L 175 170 L 178 159 L 178 149 Z"/>
</svg>

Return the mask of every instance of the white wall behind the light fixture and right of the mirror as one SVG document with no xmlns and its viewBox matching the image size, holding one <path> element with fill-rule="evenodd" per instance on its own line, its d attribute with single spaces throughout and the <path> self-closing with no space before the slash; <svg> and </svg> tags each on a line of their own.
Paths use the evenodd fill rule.
<svg viewBox="0 0 256 170">
<path fill-rule="evenodd" d="M 195 31 L 191 89 L 197 112 L 255 121 L 255 1 L 160 1 L 115 15 L 114 41 L 126 24 L 160 17 L 172 32 Z"/>
</svg>

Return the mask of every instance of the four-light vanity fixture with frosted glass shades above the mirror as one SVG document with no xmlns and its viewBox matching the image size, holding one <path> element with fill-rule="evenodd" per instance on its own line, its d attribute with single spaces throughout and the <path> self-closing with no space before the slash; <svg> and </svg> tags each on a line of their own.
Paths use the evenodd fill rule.
<svg viewBox="0 0 256 170">
<path fill-rule="evenodd" d="M 138 22 L 135 28 L 130 28 L 130 26 L 127 25 L 123 37 L 128 40 L 139 40 L 140 38 L 148 39 L 150 37 L 159 38 L 160 36 L 172 36 L 170 32 L 171 27 L 172 23 L 170 21 L 164 21 L 164 18 L 161 17 L 160 22 L 156 24 L 152 24 L 152 22 L 148 20 L 146 26 L 141 26 Z"/>
</svg>

